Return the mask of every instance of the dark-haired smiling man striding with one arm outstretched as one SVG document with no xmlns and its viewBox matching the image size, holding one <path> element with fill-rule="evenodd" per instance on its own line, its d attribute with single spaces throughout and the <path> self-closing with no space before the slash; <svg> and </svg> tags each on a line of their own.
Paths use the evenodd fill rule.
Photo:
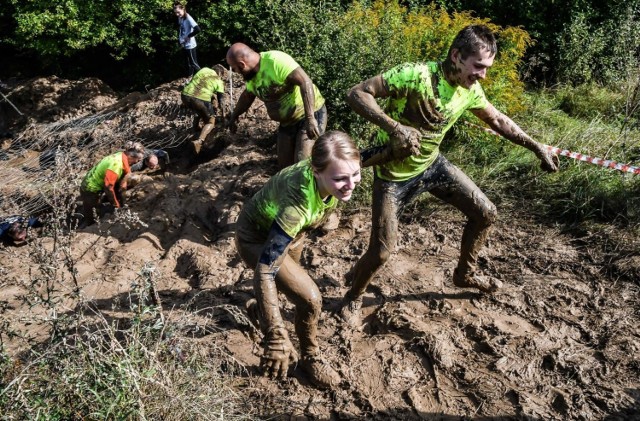
<svg viewBox="0 0 640 421">
<path fill-rule="evenodd" d="M 347 94 L 351 108 L 380 127 L 378 141 L 387 145 L 387 162 L 374 166 L 373 221 L 369 247 L 347 273 L 351 285 L 341 315 L 360 324 L 362 294 L 378 269 L 394 252 L 398 215 L 422 192 L 449 203 L 468 218 L 462 233 L 453 284 L 492 292 L 500 281 L 478 273 L 478 253 L 496 219 L 496 208 L 460 169 L 439 153 L 445 133 L 465 110 L 493 130 L 523 146 L 546 171 L 557 171 L 557 157 L 529 137 L 485 97 L 484 79 L 496 55 L 496 40 L 484 25 L 470 25 L 453 40 L 444 62 L 406 63 L 368 79 Z M 387 99 L 383 110 L 376 98 Z M 363 158 L 364 160 L 364 158 Z"/>
</svg>

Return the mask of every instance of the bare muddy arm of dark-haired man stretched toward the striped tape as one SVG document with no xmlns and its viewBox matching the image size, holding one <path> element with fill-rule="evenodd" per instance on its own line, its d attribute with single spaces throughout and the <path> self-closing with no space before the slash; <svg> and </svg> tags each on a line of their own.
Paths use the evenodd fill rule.
<svg viewBox="0 0 640 421">
<path fill-rule="evenodd" d="M 498 111 L 492 104 L 482 110 L 471 110 L 471 112 L 503 137 L 535 153 L 540 159 L 540 167 L 543 170 L 558 171 L 558 157 L 529 137 L 513 120 Z"/>
</svg>

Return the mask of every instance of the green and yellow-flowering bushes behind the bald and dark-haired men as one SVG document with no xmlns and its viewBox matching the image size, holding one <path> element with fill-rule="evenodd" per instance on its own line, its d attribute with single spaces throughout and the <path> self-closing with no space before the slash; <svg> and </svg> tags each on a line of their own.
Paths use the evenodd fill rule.
<svg viewBox="0 0 640 421">
<path fill-rule="evenodd" d="M 327 98 L 332 126 L 362 132 L 363 126 L 354 124 L 361 120 L 344 103 L 347 89 L 405 61 L 444 59 L 456 33 L 471 23 L 488 24 L 500 40 L 500 56 L 484 84 L 488 95 L 507 111 L 521 109 L 517 67 L 531 43 L 521 28 L 500 28 L 435 5 L 409 10 L 397 0 L 354 2 L 346 9 L 337 2 L 312 5 L 308 0 L 258 0 L 244 8 L 227 0 L 208 12 L 225 22 L 217 28 L 225 44 L 241 40 L 257 50 L 294 56 Z"/>
</svg>

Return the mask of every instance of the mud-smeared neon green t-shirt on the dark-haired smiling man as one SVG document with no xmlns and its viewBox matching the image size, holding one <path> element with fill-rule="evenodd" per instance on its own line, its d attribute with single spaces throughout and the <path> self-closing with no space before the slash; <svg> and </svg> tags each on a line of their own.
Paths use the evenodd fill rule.
<svg viewBox="0 0 640 421">
<path fill-rule="evenodd" d="M 421 174 L 438 156 L 445 133 L 468 109 L 484 109 L 489 105 L 478 82 L 471 88 L 452 87 L 437 62 L 405 63 L 384 73 L 382 79 L 390 94 L 385 112 L 394 120 L 420 130 L 425 136 L 420 142 L 420 155 L 402 161 L 391 161 L 376 167 L 376 174 L 388 181 L 404 181 Z M 425 102 L 434 100 L 444 117 L 437 130 L 429 130 Z M 378 131 L 378 142 L 385 144 L 389 134 Z"/>
</svg>

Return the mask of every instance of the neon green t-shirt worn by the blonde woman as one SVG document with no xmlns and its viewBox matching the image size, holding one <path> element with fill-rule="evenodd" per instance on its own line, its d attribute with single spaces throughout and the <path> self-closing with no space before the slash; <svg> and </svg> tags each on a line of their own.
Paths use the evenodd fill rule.
<svg viewBox="0 0 640 421">
<path fill-rule="evenodd" d="M 265 238 L 276 221 L 291 238 L 322 224 L 338 204 L 335 197 L 325 203 L 313 177 L 311 160 L 305 159 L 271 177 L 242 210 Z"/>
</svg>

